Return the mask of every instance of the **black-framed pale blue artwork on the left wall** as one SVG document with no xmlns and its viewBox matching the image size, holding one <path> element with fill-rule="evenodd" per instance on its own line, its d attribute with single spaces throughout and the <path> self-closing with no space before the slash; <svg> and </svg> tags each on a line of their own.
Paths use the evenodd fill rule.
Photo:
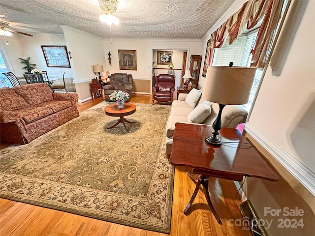
<svg viewBox="0 0 315 236">
<path fill-rule="evenodd" d="M 41 45 L 40 47 L 48 67 L 71 67 L 66 46 Z"/>
</svg>

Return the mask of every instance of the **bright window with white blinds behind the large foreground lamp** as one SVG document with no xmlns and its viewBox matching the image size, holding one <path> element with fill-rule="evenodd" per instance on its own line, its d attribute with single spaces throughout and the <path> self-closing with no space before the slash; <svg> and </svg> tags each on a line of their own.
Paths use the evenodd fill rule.
<svg viewBox="0 0 315 236">
<path fill-rule="evenodd" d="M 228 44 L 228 40 L 225 40 L 221 48 L 215 49 L 212 65 L 228 66 L 229 62 L 233 61 L 233 66 L 250 66 L 252 58 L 251 51 L 255 44 L 257 33 L 258 29 L 255 29 L 252 32 L 240 35 L 232 44 Z M 253 99 L 257 92 L 261 74 L 262 70 L 257 69 L 249 102 L 243 105 L 248 111 L 251 109 Z"/>
</svg>

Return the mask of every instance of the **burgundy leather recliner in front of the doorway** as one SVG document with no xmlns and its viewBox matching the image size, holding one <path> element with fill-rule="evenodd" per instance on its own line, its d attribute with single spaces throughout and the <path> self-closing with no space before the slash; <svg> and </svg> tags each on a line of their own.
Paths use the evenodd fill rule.
<svg viewBox="0 0 315 236">
<path fill-rule="evenodd" d="M 155 87 L 153 87 L 153 99 L 159 102 L 173 101 L 173 93 L 175 91 L 175 76 L 171 74 L 159 74 L 156 77 Z"/>
</svg>

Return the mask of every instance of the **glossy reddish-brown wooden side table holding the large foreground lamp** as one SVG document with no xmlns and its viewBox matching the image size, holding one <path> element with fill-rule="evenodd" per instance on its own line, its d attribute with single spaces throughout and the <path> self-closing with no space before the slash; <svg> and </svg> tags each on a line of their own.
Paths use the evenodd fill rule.
<svg viewBox="0 0 315 236">
<path fill-rule="evenodd" d="M 242 181 L 244 176 L 276 181 L 278 175 L 260 157 L 237 129 L 221 128 L 219 137 L 222 145 L 213 147 L 205 142 L 212 126 L 175 124 L 173 148 L 170 162 L 173 165 L 192 167 L 193 174 L 199 175 L 196 188 L 184 210 L 186 214 L 195 199 L 200 185 L 203 186 L 208 205 L 219 224 L 221 219 L 212 205 L 208 190 L 208 177 Z M 189 174 L 189 177 L 190 174 Z"/>
</svg>

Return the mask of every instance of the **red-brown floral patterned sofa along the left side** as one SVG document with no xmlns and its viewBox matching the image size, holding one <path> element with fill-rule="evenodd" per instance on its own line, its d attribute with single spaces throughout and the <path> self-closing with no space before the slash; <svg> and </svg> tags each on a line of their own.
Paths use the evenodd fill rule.
<svg viewBox="0 0 315 236">
<path fill-rule="evenodd" d="M 27 144 L 79 116 L 76 93 L 42 83 L 0 89 L 1 143 Z"/>
</svg>

